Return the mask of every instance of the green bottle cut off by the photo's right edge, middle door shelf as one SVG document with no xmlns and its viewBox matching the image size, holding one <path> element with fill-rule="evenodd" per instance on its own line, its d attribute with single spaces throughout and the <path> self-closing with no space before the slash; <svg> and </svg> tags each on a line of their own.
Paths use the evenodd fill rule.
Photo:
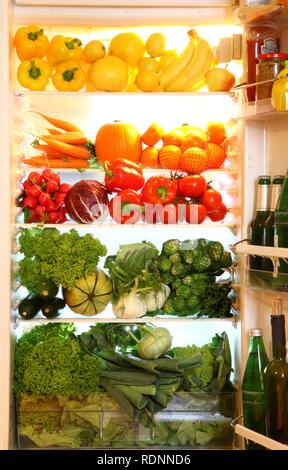
<svg viewBox="0 0 288 470">
<path fill-rule="evenodd" d="M 274 246 L 288 248 L 288 175 L 285 176 L 275 210 Z M 288 264 L 281 258 L 278 271 L 288 273 Z"/>
</svg>

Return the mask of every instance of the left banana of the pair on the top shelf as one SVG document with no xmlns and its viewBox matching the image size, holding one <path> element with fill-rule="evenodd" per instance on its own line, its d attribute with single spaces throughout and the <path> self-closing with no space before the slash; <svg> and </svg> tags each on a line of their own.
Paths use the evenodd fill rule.
<svg viewBox="0 0 288 470">
<path fill-rule="evenodd" d="M 197 43 L 197 33 L 191 29 L 188 31 L 189 43 L 183 49 L 182 53 L 176 61 L 174 61 L 166 70 L 159 75 L 159 86 L 155 91 L 163 91 L 167 83 L 171 82 L 181 71 L 189 64 L 194 55 L 195 46 Z"/>
</svg>

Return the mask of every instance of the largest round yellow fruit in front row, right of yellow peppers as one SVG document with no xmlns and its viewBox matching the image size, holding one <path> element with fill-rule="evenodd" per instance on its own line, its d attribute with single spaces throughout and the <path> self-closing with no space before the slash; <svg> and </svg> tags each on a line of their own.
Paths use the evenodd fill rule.
<svg viewBox="0 0 288 470">
<path fill-rule="evenodd" d="M 88 82 L 97 90 L 122 91 L 128 84 L 129 69 L 119 57 L 103 57 L 91 65 Z"/>
</svg>

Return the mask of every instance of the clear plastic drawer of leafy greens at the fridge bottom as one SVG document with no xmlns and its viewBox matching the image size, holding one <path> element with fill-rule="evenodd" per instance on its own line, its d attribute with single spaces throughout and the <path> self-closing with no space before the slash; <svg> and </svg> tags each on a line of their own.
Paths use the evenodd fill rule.
<svg viewBox="0 0 288 470">
<path fill-rule="evenodd" d="M 105 392 L 86 397 L 23 395 L 17 400 L 20 449 L 232 449 L 236 391 L 176 392 L 149 425 L 127 416 Z"/>
</svg>

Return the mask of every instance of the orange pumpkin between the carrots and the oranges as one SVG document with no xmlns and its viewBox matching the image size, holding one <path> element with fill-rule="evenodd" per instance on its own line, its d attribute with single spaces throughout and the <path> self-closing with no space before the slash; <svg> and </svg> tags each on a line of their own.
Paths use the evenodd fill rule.
<svg viewBox="0 0 288 470">
<path fill-rule="evenodd" d="M 142 152 L 140 134 L 136 127 L 126 122 L 104 124 L 96 135 L 95 152 L 100 162 L 126 158 L 138 163 Z"/>
</svg>

